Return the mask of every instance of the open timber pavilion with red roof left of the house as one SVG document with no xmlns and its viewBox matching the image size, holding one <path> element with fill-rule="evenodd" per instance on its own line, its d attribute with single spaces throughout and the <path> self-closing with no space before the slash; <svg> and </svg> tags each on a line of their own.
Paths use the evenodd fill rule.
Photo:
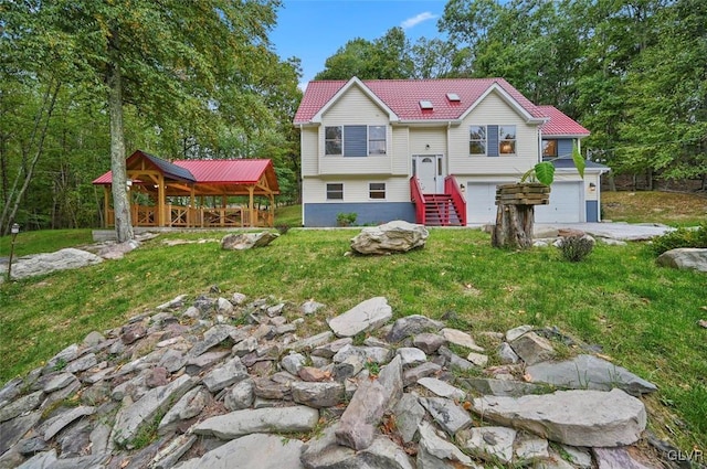
<svg viewBox="0 0 707 469">
<path fill-rule="evenodd" d="M 279 193 L 273 162 L 266 159 L 167 161 L 141 150 L 126 160 L 130 215 L 135 226 L 273 226 Z M 110 209 L 112 171 L 93 181 L 104 186 L 105 226 Z M 233 203 L 229 198 L 241 198 Z M 256 207 L 256 198 L 267 209 Z"/>
</svg>

